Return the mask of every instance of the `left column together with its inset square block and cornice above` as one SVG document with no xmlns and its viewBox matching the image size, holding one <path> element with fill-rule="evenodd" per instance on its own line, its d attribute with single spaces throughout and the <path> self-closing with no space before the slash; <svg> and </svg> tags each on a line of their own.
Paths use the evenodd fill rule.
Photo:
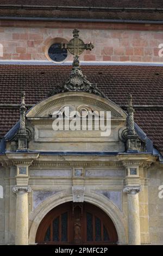
<svg viewBox="0 0 163 256">
<path fill-rule="evenodd" d="M 16 185 L 12 188 L 16 193 L 15 245 L 28 245 L 28 193 L 32 191 L 28 185 L 28 168 L 39 154 L 22 152 L 6 153 L 6 156 L 17 168 Z"/>
</svg>

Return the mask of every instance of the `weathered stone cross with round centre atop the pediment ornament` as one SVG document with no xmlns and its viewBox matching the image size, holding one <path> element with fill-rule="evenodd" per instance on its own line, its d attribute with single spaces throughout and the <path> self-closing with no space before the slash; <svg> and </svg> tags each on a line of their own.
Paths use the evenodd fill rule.
<svg viewBox="0 0 163 256">
<path fill-rule="evenodd" d="M 78 29 L 74 29 L 73 38 L 68 42 L 68 44 L 61 43 L 61 48 L 67 48 L 67 50 L 75 56 L 79 57 L 84 50 L 92 50 L 94 46 L 91 42 L 89 44 L 84 44 L 83 40 L 79 38 Z"/>
</svg>

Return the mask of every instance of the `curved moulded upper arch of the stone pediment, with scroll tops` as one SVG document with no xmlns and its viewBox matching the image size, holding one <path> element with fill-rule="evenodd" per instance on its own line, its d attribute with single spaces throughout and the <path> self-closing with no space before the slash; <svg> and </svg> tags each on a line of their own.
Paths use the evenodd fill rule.
<svg viewBox="0 0 163 256">
<path fill-rule="evenodd" d="M 67 92 L 48 97 L 32 107 L 26 116 L 27 118 L 48 118 L 53 112 L 61 111 L 64 106 L 71 106 L 76 111 L 82 108 L 91 109 L 91 111 L 110 111 L 111 118 L 115 119 L 127 117 L 123 109 L 111 100 L 84 92 Z"/>
</svg>

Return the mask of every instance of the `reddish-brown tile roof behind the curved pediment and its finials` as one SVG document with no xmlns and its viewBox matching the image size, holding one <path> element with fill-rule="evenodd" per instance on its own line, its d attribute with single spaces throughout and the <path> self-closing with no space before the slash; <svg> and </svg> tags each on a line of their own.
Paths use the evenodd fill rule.
<svg viewBox="0 0 163 256">
<path fill-rule="evenodd" d="M 65 82 L 68 65 L 0 65 L 0 137 L 19 119 L 21 91 L 26 104 L 34 105 Z M 133 95 L 135 121 L 152 139 L 154 147 L 163 151 L 163 66 L 82 66 L 83 74 L 124 109 L 127 95 Z M 1 105 L 1 104 L 5 104 Z"/>
</svg>

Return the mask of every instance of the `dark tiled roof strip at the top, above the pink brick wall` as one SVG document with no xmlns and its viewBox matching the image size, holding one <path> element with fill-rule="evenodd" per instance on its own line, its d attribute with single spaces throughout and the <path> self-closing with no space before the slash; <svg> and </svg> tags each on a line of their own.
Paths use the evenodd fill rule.
<svg viewBox="0 0 163 256">
<path fill-rule="evenodd" d="M 0 0 L 0 17 L 162 21 L 162 8 L 160 0 Z"/>
</svg>

